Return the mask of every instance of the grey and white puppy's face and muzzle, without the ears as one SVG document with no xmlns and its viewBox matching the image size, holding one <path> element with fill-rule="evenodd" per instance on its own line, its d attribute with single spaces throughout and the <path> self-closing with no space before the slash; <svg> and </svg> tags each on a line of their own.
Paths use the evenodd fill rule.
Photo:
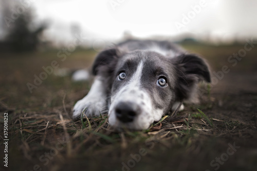
<svg viewBox="0 0 257 171">
<path fill-rule="evenodd" d="M 116 66 L 109 123 L 142 130 L 160 120 L 175 98 L 174 73 L 168 59 L 158 53 L 124 55 Z"/>
</svg>

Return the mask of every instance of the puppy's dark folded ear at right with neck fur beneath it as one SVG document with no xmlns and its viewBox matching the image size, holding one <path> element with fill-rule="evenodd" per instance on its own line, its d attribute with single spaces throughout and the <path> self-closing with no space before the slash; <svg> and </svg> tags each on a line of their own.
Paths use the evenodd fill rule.
<svg viewBox="0 0 257 171">
<path fill-rule="evenodd" d="M 207 62 L 195 54 L 183 54 L 174 60 L 177 73 L 177 85 L 175 88 L 177 100 L 197 102 L 197 99 L 193 99 L 194 96 L 197 97 L 196 84 L 201 80 L 211 82 Z"/>
</svg>

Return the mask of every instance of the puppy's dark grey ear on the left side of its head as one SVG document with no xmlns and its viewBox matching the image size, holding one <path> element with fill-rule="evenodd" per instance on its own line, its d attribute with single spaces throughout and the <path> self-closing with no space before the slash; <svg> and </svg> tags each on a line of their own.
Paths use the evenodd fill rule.
<svg viewBox="0 0 257 171">
<path fill-rule="evenodd" d="M 93 74 L 97 75 L 101 70 L 108 70 L 109 67 L 113 66 L 115 68 L 117 59 L 118 59 L 118 53 L 117 49 L 107 49 L 102 52 L 100 52 L 93 64 Z"/>
</svg>

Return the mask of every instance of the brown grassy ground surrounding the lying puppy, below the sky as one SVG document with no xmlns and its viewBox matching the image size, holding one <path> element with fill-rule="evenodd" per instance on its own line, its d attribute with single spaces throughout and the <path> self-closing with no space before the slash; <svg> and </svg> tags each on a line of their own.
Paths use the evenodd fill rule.
<svg viewBox="0 0 257 171">
<path fill-rule="evenodd" d="M 151 129 L 116 132 L 107 116 L 70 119 L 75 102 L 86 95 L 89 82 L 72 82 L 49 74 L 29 92 L 43 66 L 53 60 L 68 71 L 89 67 L 96 52 L 78 50 L 65 61 L 58 51 L 1 54 L 0 147 L 4 153 L 4 113 L 8 113 L 6 170 L 256 170 L 257 48 L 236 66 L 228 57 L 244 45 L 183 45 L 206 57 L 213 82 L 200 84 L 200 104 L 186 104 L 176 117 Z M 228 66 L 228 73 L 221 73 Z M 215 78 L 216 77 L 216 78 Z M 197 109 L 202 111 L 200 113 Z"/>
</svg>

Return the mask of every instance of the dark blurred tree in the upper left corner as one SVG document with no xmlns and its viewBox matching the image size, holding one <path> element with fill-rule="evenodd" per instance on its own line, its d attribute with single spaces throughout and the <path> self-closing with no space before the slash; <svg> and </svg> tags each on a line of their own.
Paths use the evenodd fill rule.
<svg viewBox="0 0 257 171">
<path fill-rule="evenodd" d="M 35 24 L 29 4 L 0 0 L 1 29 L 0 52 L 36 51 L 42 44 L 41 36 L 46 24 Z"/>
</svg>

